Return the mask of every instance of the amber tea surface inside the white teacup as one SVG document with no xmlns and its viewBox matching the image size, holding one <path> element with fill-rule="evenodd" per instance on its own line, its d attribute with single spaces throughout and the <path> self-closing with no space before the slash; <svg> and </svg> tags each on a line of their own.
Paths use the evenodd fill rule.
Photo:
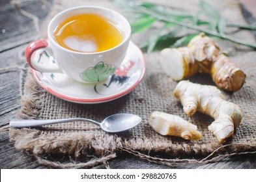
<svg viewBox="0 0 256 182">
<path fill-rule="evenodd" d="M 96 14 L 79 14 L 65 19 L 53 35 L 62 47 L 86 53 L 105 51 L 122 42 L 121 30 Z"/>
</svg>

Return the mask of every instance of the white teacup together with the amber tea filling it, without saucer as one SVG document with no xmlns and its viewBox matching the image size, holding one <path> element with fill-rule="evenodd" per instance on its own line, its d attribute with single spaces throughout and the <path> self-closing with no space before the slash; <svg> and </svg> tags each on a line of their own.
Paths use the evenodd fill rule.
<svg viewBox="0 0 256 182">
<path fill-rule="evenodd" d="M 121 65 L 130 42 L 127 19 L 100 6 L 79 6 L 51 19 L 48 40 L 36 40 L 25 51 L 27 63 L 39 72 L 65 73 L 80 83 L 104 81 Z M 36 62 L 33 53 L 46 50 L 54 64 Z"/>
</svg>

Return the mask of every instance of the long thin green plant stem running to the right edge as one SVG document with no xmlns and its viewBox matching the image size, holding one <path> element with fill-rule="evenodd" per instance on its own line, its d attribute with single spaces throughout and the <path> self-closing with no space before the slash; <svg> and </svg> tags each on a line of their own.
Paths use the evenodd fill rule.
<svg viewBox="0 0 256 182">
<path fill-rule="evenodd" d="M 229 41 L 235 42 L 237 44 L 247 45 L 247 46 L 256 48 L 256 44 L 252 44 L 252 43 L 249 43 L 249 42 L 244 42 L 242 40 L 239 40 L 239 39 L 233 38 L 231 36 L 228 36 L 226 34 L 220 34 L 219 32 L 214 32 L 214 31 L 210 31 L 210 30 L 207 30 L 207 29 L 202 29 L 201 27 L 196 26 L 196 25 L 191 25 L 191 24 L 188 24 L 188 23 L 176 21 L 175 19 L 171 19 L 171 18 L 168 18 L 166 16 L 156 14 L 155 12 L 152 12 L 152 11 L 148 10 L 147 8 L 143 8 L 143 7 L 138 8 L 136 6 L 134 6 L 133 8 L 135 8 L 135 10 L 137 10 L 140 13 L 149 14 L 150 16 L 154 16 L 155 18 L 158 18 L 162 21 L 168 21 L 168 22 L 171 22 L 171 23 L 175 23 L 177 25 L 180 25 L 182 27 L 186 27 L 188 29 L 193 29 L 193 30 L 199 31 L 199 32 L 205 32 L 206 34 L 210 34 L 212 36 L 223 38 L 225 40 L 229 40 Z"/>
</svg>

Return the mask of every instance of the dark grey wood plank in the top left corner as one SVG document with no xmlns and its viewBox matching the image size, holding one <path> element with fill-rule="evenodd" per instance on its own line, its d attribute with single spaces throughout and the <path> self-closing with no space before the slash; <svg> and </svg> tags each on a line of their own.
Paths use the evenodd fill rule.
<svg viewBox="0 0 256 182">
<path fill-rule="evenodd" d="M 52 3 L 52 0 L 47 1 Z M 29 14 L 36 14 L 34 18 L 38 21 L 38 27 L 50 10 L 42 1 L 24 1 L 19 5 L 11 2 L 15 1 L 0 1 L 0 52 L 31 42 L 38 36 L 33 18 L 22 14 L 19 8 Z"/>
</svg>

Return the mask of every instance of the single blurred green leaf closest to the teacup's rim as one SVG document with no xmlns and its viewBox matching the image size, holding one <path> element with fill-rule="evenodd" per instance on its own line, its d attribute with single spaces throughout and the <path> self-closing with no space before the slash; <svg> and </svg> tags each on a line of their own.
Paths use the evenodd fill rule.
<svg viewBox="0 0 256 182">
<path fill-rule="evenodd" d="M 156 20 L 156 18 L 151 16 L 139 19 L 138 21 L 131 24 L 132 33 L 142 32 L 146 29 L 149 29 L 149 27 L 151 27 Z"/>
</svg>

